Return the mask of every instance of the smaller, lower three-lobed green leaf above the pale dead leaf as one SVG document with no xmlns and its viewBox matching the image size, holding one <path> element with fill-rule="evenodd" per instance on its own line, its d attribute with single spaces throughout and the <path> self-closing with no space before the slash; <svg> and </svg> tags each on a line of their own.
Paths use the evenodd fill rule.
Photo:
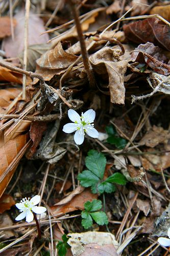
<svg viewBox="0 0 170 256">
<path fill-rule="evenodd" d="M 107 225 L 108 218 L 104 211 L 99 211 L 102 208 L 102 201 L 94 199 L 92 202 L 87 201 L 84 204 L 85 210 L 82 211 L 82 226 L 89 228 L 93 224 L 93 220 L 99 225 Z"/>
</svg>

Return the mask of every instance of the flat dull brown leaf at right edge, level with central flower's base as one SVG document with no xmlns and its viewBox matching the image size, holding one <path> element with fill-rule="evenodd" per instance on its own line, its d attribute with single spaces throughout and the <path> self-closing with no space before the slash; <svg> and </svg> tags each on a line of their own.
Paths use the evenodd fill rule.
<svg viewBox="0 0 170 256">
<path fill-rule="evenodd" d="M 139 142 L 139 145 L 146 145 L 149 147 L 155 147 L 159 143 L 167 144 L 170 138 L 168 130 L 164 130 L 162 127 L 153 126 L 152 130 L 146 133 Z"/>
</svg>

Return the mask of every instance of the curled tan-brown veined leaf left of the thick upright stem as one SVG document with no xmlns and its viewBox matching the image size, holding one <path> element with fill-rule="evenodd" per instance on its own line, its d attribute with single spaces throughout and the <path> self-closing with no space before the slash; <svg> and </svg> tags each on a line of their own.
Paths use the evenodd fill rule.
<svg viewBox="0 0 170 256">
<path fill-rule="evenodd" d="M 59 42 L 54 49 L 48 50 L 37 59 L 36 72 L 41 74 L 45 80 L 50 80 L 54 75 L 64 72 L 77 58 L 78 56 L 64 51 L 61 42 Z M 34 79 L 35 81 L 37 79 Z"/>
</svg>

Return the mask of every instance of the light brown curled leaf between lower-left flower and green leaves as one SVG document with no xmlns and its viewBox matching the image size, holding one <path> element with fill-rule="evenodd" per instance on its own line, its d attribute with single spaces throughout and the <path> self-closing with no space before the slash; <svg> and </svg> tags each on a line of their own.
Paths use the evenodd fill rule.
<svg viewBox="0 0 170 256">
<path fill-rule="evenodd" d="M 81 191 L 82 189 L 83 191 Z M 71 211 L 84 209 L 84 203 L 86 201 L 91 202 L 96 198 L 98 198 L 98 195 L 92 194 L 90 189 L 84 190 L 84 188 L 78 187 L 76 194 L 73 191 L 71 195 L 52 206 L 51 212 L 53 215 L 61 216 Z"/>
</svg>

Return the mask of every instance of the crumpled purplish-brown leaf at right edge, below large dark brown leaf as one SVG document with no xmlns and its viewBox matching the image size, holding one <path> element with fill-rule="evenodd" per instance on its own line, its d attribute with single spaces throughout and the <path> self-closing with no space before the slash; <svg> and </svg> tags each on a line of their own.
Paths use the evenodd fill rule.
<svg viewBox="0 0 170 256">
<path fill-rule="evenodd" d="M 132 61 L 138 61 L 139 63 L 146 63 L 155 72 L 163 75 L 170 74 L 170 66 L 166 65 L 162 61 L 166 60 L 166 57 L 161 53 L 159 47 L 155 47 L 152 43 L 139 45 L 131 54 Z"/>
</svg>

